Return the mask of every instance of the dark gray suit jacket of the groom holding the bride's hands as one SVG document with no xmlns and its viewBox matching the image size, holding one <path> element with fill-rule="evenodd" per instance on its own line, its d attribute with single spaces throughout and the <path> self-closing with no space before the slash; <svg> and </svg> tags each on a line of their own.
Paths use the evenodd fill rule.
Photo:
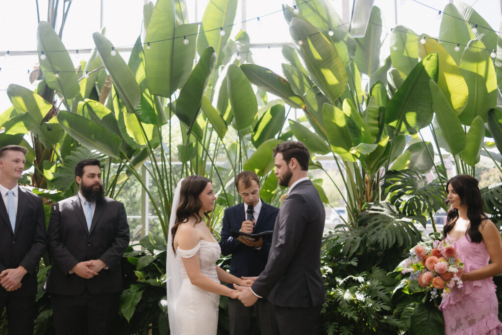
<svg viewBox="0 0 502 335">
<path fill-rule="evenodd" d="M 312 182 L 298 183 L 277 216 L 267 266 L 251 286 L 256 294 L 283 307 L 324 303 L 320 252 L 325 217 Z"/>
</svg>

